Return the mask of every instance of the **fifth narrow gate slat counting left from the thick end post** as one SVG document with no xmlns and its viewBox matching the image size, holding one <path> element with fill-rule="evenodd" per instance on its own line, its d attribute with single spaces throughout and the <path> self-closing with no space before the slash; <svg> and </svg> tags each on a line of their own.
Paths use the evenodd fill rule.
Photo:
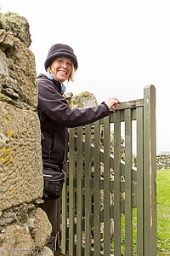
<svg viewBox="0 0 170 256">
<path fill-rule="evenodd" d="M 94 123 L 94 256 L 100 254 L 100 124 Z"/>
</svg>

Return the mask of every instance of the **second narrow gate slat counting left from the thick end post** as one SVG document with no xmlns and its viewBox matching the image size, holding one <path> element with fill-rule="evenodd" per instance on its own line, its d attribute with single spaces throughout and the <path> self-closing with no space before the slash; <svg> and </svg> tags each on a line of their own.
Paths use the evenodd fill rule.
<svg viewBox="0 0 170 256">
<path fill-rule="evenodd" d="M 125 254 L 133 254 L 132 202 L 132 119 L 131 109 L 125 109 Z"/>
</svg>

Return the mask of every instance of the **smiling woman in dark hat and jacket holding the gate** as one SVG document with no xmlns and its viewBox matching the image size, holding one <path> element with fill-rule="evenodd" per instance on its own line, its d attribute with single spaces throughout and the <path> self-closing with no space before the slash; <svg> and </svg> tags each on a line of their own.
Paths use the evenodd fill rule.
<svg viewBox="0 0 170 256">
<path fill-rule="evenodd" d="M 77 70 L 77 57 L 73 49 L 65 44 L 54 44 L 48 51 L 44 63 L 46 73 L 40 74 L 38 81 L 38 115 L 42 131 L 42 162 L 64 166 L 68 144 L 68 127 L 87 125 L 109 115 L 116 110 L 119 101 L 110 98 L 102 104 L 82 109 L 71 109 L 62 94 L 66 80 L 72 80 Z M 60 224 L 60 199 L 45 199 L 42 209 L 47 212 L 52 224 L 52 234 L 47 246 L 54 247 L 54 240 Z"/>
</svg>

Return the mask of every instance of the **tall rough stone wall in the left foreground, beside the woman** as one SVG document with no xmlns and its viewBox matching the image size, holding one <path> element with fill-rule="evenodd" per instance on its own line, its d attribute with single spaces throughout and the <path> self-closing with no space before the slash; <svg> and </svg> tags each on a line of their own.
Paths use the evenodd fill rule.
<svg viewBox="0 0 170 256">
<path fill-rule="evenodd" d="M 8 255 L 33 250 L 45 254 L 51 233 L 47 215 L 38 207 L 43 189 L 41 132 L 30 44 L 25 18 L 0 14 L 0 254 Z"/>
</svg>

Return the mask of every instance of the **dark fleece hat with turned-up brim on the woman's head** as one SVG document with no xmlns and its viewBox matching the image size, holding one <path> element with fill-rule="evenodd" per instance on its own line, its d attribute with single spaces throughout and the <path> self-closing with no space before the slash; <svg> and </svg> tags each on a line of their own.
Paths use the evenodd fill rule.
<svg viewBox="0 0 170 256">
<path fill-rule="evenodd" d="M 59 56 L 66 56 L 71 58 L 75 69 L 78 67 L 77 57 L 74 55 L 73 49 L 66 44 L 54 44 L 48 51 L 47 59 L 44 63 L 44 67 L 47 70 L 51 63 Z"/>
</svg>

